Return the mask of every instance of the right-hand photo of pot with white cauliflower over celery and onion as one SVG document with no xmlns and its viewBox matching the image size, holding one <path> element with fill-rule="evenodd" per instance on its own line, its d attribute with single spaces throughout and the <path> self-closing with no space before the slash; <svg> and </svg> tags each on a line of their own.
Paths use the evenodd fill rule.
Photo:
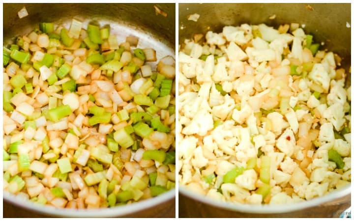
<svg viewBox="0 0 354 221">
<path fill-rule="evenodd" d="M 351 4 L 178 18 L 179 218 L 350 217 Z"/>
</svg>

